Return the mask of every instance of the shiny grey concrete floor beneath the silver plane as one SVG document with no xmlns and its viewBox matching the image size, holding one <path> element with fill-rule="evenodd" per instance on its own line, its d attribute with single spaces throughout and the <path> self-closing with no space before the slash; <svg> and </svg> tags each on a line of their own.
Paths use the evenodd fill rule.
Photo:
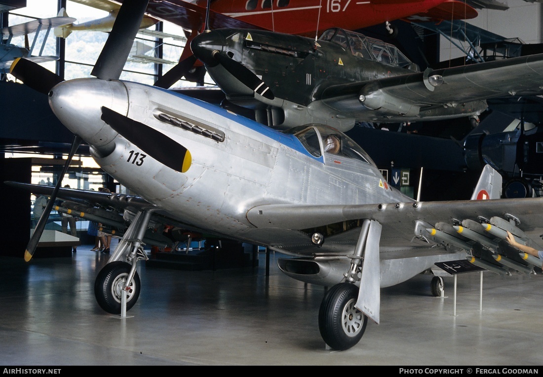
<svg viewBox="0 0 543 377">
<path fill-rule="evenodd" d="M 108 255 L 0 257 L 0 365 L 543 365 L 541 276 L 431 276 L 381 291 L 381 323 L 357 346 L 334 352 L 318 329 L 324 288 L 260 266 L 186 272 L 140 264 L 141 296 L 127 318 L 94 299 Z"/>
</svg>

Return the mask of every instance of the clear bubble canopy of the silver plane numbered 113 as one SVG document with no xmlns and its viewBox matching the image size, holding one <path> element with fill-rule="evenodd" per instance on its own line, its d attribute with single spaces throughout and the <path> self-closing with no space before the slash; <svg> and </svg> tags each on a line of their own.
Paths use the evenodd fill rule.
<svg viewBox="0 0 543 377">
<path fill-rule="evenodd" d="M 350 137 L 331 127 L 311 124 L 291 130 L 304 148 L 315 157 L 336 155 L 375 165 L 370 156 Z"/>
</svg>

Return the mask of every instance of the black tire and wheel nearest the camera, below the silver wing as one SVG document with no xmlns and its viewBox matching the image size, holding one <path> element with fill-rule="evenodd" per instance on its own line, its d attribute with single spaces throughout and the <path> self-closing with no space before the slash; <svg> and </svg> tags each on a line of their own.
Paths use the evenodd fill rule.
<svg viewBox="0 0 543 377">
<path fill-rule="evenodd" d="M 340 283 L 326 293 L 320 304 L 320 335 L 333 349 L 349 349 L 364 335 L 368 317 L 355 308 L 357 298 L 356 285 Z"/>
</svg>

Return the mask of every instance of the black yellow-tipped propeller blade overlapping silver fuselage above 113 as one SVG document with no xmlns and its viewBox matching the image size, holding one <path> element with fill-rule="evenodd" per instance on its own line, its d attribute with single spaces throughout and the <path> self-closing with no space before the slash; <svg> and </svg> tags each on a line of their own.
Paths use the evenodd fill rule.
<svg viewBox="0 0 543 377">
<path fill-rule="evenodd" d="M 130 143 L 137 145 L 142 151 L 168 168 L 184 173 L 191 167 L 191 152 L 162 132 L 105 106 L 102 106 L 102 120 Z"/>
</svg>

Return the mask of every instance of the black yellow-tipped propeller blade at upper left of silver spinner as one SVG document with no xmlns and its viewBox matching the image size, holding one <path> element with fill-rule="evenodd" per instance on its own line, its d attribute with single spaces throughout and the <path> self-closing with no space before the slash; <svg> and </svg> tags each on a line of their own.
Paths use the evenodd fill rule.
<svg viewBox="0 0 543 377">
<path fill-rule="evenodd" d="M 40 66 L 38 63 L 20 57 L 11 63 L 9 73 L 24 82 L 28 87 L 43 94 L 49 93 L 53 86 L 64 81 L 59 75 Z"/>
</svg>

